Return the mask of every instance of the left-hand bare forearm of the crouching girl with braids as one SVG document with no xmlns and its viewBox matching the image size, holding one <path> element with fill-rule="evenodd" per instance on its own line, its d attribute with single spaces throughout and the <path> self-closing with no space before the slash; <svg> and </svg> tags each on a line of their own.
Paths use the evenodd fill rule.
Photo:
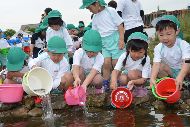
<svg viewBox="0 0 190 127">
<path fill-rule="evenodd" d="M 111 88 L 113 90 L 117 89 L 117 77 L 118 77 L 119 71 L 117 69 L 114 69 L 111 74 Z"/>
</svg>

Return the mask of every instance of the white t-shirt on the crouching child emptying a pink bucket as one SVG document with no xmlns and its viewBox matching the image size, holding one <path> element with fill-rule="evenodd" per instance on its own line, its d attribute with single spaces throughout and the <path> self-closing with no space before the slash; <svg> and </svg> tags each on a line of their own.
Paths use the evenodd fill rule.
<svg viewBox="0 0 190 127">
<path fill-rule="evenodd" d="M 86 55 L 84 49 L 79 48 L 75 51 L 73 56 L 73 65 L 81 66 L 85 72 L 90 72 L 92 68 L 96 69 L 99 73 L 101 73 L 101 68 L 104 63 L 104 57 L 99 52 L 96 57 L 89 58 Z"/>
</svg>

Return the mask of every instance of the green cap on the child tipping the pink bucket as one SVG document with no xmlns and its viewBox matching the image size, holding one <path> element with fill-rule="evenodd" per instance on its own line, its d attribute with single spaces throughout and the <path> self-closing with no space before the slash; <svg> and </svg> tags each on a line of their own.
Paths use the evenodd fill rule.
<svg viewBox="0 0 190 127">
<path fill-rule="evenodd" d="M 83 36 L 83 49 L 92 52 L 100 52 L 102 50 L 102 38 L 97 30 L 85 32 Z"/>
</svg>

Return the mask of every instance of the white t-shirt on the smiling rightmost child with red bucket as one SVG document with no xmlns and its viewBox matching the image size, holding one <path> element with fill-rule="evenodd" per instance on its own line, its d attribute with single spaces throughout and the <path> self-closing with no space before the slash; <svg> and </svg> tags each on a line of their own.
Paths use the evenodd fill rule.
<svg viewBox="0 0 190 127">
<path fill-rule="evenodd" d="M 173 69 L 181 69 L 183 60 L 186 58 L 190 58 L 190 46 L 189 43 L 181 38 L 176 38 L 176 42 L 171 48 L 162 43 L 159 43 L 154 48 L 153 62 L 162 61 Z"/>
</svg>

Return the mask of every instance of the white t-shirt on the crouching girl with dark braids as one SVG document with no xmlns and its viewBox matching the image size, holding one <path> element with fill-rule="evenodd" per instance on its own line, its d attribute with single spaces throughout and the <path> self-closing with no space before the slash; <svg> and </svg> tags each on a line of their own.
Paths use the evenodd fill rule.
<svg viewBox="0 0 190 127">
<path fill-rule="evenodd" d="M 126 58 L 127 52 L 124 52 L 118 59 L 118 62 L 114 69 L 121 71 L 121 68 L 123 67 L 123 61 Z M 142 78 L 150 78 L 151 75 L 151 65 L 150 65 L 150 57 L 146 57 L 146 63 L 144 66 L 142 66 L 142 60 L 145 58 L 145 56 L 142 59 L 139 59 L 137 61 L 133 61 L 133 59 L 130 57 L 130 54 L 128 55 L 125 70 L 128 72 L 129 70 L 138 70 L 142 71 Z"/>
</svg>

